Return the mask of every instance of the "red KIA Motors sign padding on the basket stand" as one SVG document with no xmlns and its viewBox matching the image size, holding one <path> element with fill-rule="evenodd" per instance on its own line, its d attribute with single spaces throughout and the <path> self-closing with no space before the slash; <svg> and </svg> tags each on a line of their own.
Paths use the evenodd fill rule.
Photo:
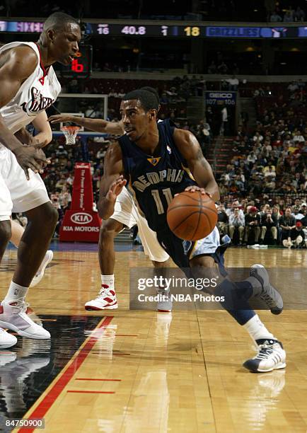
<svg viewBox="0 0 307 433">
<path fill-rule="evenodd" d="M 76 163 L 71 209 L 64 215 L 60 241 L 98 242 L 101 219 L 93 211 L 91 164 Z"/>
</svg>

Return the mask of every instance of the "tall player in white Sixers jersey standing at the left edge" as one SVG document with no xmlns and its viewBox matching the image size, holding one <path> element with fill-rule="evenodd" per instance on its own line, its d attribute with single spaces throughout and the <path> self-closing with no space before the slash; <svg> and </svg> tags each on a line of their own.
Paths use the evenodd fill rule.
<svg viewBox="0 0 307 433">
<path fill-rule="evenodd" d="M 47 340 L 50 333 L 25 313 L 25 295 L 40 266 L 57 224 L 38 172 L 46 158 L 35 146 L 14 137 L 46 110 L 61 90 L 52 64 L 68 65 L 79 50 L 79 24 L 65 13 L 52 14 L 37 43 L 11 42 L 0 48 L 0 260 L 11 238 L 11 212 L 24 212 L 28 225 L 18 248 L 18 262 L 0 306 L 0 326 L 23 337 Z M 16 337 L 0 333 L 0 348 Z"/>
</svg>

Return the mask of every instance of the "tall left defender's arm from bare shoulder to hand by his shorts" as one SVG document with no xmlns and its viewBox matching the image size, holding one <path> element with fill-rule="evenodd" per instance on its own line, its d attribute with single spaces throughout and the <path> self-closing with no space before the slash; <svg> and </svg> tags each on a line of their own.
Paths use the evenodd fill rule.
<svg viewBox="0 0 307 433">
<path fill-rule="evenodd" d="M 18 92 L 23 82 L 33 73 L 37 66 L 37 55 L 30 47 L 21 46 L 4 52 L 0 57 L 0 108 L 4 107 Z M 23 146 L 6 126 L 0 115 L 0 142 L 15 154 L 16 159 L 25 171 L 28 179 L 28 168 L 35 173 L 47 163 L 42 151 L 33 146 Z"/>
</svg>

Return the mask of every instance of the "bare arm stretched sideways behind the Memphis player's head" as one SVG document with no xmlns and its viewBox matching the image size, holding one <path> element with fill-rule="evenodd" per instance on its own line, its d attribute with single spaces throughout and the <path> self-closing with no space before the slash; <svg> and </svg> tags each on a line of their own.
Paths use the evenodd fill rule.
<svg viewBox="0 0 307 433">
<path fill-rule="evenodd" d="M 124 134 L 124 125 L 122 122 L 108 122 L 103 119 L 90 119 L 89 117 L 80 117 L 72 115 L 54 115 L 49 117 L 50 123 L 74 122 L 86 129 L 95 132 L 105 132 L 106 134 L 122 135 Z"/>
</svg>

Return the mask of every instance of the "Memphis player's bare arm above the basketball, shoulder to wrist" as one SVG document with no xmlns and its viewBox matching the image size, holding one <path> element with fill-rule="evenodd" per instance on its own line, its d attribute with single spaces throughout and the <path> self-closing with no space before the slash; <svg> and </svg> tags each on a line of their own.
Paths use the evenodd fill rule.
<svg viewBox="0 0 307 433">
<path fill-rule="evenodd" d="M 219 200 L 219 186 L 216 183 L 210 164 L 202 154 L 202 149 L 196 137 L 192 132 L 184 129 L 175 129 L 173 137 L 180 154 L 187 161 L 197 185 L 204 188 L 211 195 L 214 202 Z"/>
</svg>

